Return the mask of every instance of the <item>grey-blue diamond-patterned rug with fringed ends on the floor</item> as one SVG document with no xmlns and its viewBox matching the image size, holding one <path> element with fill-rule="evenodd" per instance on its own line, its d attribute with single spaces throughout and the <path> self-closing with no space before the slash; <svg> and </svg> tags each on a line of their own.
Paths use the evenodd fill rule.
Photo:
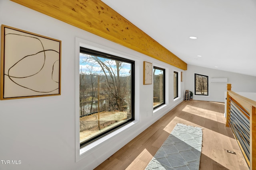
<svg viewBox="0 0 256 170">
<path fill-rule="evenodd" d="M 178 123 L 145 170 L 198 170 L 202 128 Z"/>
</svg>

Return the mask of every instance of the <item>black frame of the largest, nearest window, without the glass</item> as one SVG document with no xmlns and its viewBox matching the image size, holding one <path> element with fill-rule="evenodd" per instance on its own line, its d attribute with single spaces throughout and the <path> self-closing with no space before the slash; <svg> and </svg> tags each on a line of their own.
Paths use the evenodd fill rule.
<svg viewBox="0 0 256 170">
<path fill-rule="evenodd" d="M 104 57 L 107 59 L 114 59 L 114 60 L 118 60 L 118 61 L 123 61 L 126 63 L 130 63 L 131 64 L 131 118 L 128 119 L 127 121 L 120 123 L 114 127 L 112 127 L 111 129 L 108 129 L 98 135 L 95 135 L 94 137 L 83 141 L 80 143 L 80 149 L 82 147 L 85 147 L 86 145 L 89 145 L 90 143 L 97 141 L 98 139 L 108 135 L 109 133 L 112 133 L 114 131 L 116 131 L 117 129 L 120 129 L 121 127 L 123 127 L 124 125 L 127 125 L 128 123 L 132 122 L 135 120 L 135 61 L 130 60 L 130 59 L 125 59 L 123 57 L 118 57 L 116 55 L 111 55 L 108 53 L 103 53 L 100 51 L 96 51 L 96 50 L 92 50 L 92 49 L 88 49 L 85 47 L 80 46 L 80 53 L 86 53 L 89 55 L 96 55 L 98 57 Z M 79 99 L 78 99 L 79 100 Z"/>
</svg>

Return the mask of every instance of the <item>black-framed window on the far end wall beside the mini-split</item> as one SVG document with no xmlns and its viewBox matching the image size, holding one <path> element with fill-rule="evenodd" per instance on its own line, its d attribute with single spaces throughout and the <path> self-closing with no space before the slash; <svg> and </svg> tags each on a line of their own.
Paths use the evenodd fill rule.
<svg viewBox="0 0 256 170">
<path fill-rule="evenodd" d="M 208 76 L 195 74 L 195 95 L 208 96 Z"/>
</svg>

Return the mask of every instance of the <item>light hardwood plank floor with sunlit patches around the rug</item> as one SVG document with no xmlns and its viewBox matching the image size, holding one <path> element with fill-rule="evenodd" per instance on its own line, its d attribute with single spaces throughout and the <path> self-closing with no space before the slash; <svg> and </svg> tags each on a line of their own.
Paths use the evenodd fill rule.
<svg viewBox="0 0 256 170">
<path fill-rule="evenodd" d="M 95 170 L 144 170 L 176 123 L 203 128 L 200 170 L 248 170 L 232 131 L 225 127 L 224 107 L 218 102 L 183 101 Z"/>
</svg>

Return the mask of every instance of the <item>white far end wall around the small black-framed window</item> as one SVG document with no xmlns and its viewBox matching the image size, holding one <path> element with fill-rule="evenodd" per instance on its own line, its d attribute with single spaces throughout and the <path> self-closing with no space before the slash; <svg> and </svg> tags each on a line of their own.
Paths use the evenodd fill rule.
<svg viewBox="0 0 256 170">
<path fill-rule="evenodd" d="M 235 69 L 235 68 L 234 68 Z M 248 76 L 233 72 L 221 71 L 211 68 L 194 66 L 188 64 L 188 70 L 185 71 L 185 89 L 194 93 L 194 74 L 209 76 L 209 96 L 194 95 L 194 100 L 205 100 L 213 102 L 224 102 L 227 83 L 232 84 L 234 92 L 256 92 L 256 76 Z M 227 83 L 211 83 L 211 78 L 228 78 Z"/>
</svg>

